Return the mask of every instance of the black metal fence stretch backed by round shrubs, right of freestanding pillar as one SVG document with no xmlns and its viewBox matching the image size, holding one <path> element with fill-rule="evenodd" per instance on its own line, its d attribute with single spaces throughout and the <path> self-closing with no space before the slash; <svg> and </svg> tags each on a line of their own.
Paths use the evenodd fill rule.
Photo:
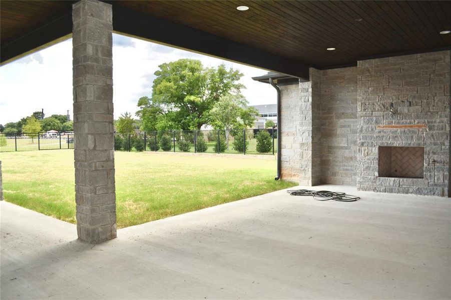
<svg viewBox="0 0 451 300">
<path fill-rule="evenodd" d="M 115 150 L 193 153 L 277 153 L 277 130 L 165 130 L 115 133 Z"/>
</svg>

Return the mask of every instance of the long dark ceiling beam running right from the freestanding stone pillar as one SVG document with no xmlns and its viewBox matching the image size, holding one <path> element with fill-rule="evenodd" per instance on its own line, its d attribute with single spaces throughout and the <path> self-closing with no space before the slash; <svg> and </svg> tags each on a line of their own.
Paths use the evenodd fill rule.
<svg viewBox="0 0 451 300">
<path fill-rule="evenodd" d="M 113 4 L 116 32 L 308 79 L 309 65 Z"/>
</svg>

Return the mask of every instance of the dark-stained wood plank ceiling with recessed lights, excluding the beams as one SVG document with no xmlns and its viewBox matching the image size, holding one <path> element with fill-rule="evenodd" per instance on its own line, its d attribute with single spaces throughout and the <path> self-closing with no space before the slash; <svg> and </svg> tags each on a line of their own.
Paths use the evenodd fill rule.
<svg viewBox="0 0 451 300">
<path fill-rule="evenodd" d="M 0 43 L 67 12 L 72 2 L 2 1 Z M 107 2 L 318 68 L 451 46 L 451 33 L 439 34 L 451 30 L 451 1 Z M 238 11 L 239 5 L 249 10 Z"/>
</svg>

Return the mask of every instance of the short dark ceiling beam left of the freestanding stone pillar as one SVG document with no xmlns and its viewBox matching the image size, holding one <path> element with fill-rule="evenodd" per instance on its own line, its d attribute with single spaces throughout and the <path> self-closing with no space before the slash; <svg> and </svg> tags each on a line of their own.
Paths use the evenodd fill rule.
<svg viewBox="0 0 451 300">
<path fill-rule="evenodd" d="M 72 10 L 64 11 L 46 20 L 32 30 L 14 37 L 2 44 L 0 63 L 2 65 L 41 50 L 72 34 Z"/>
</svg>

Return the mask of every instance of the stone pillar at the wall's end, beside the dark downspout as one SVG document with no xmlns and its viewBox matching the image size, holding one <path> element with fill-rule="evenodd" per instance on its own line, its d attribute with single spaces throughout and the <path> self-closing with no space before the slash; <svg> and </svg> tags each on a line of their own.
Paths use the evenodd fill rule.
<svg viewBox="0 0 451 300">
<path fill-rule="evenodd" d="M 310 68 L 310 80 L 281 85 L 282 179 L 300 185 L 321 183 L 319 70 Z"/>
</svg>

